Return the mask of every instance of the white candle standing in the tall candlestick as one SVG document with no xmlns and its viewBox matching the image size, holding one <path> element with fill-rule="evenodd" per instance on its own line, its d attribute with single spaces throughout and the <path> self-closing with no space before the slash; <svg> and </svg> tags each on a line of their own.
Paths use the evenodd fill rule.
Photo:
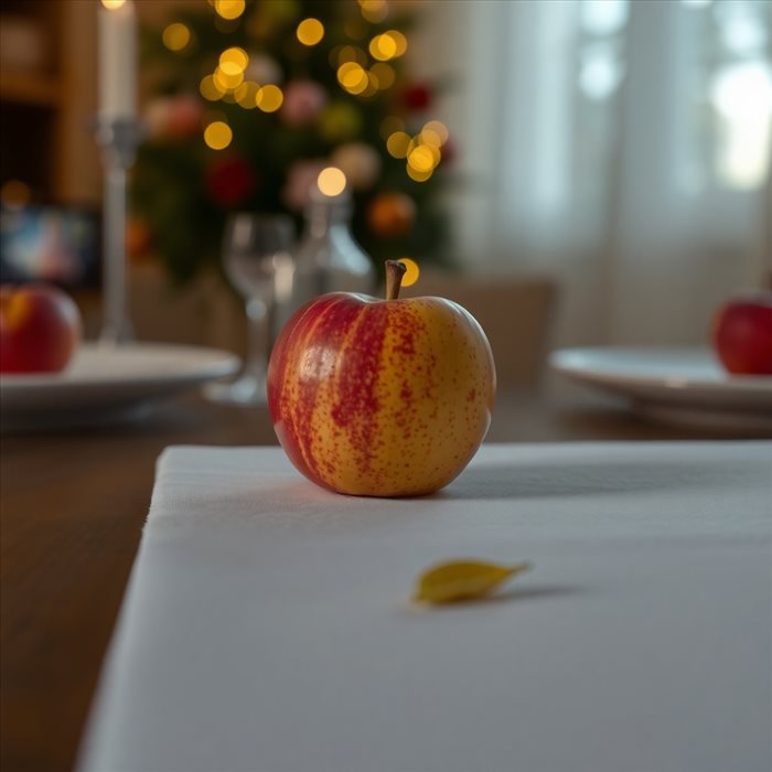
<svg viewBox="0 0 772 772">
<path fill-rule="evenodd" d="M 137 17 L 133 2 L 99 7 L 99 115 L 137 114 Z"/>
</svg>

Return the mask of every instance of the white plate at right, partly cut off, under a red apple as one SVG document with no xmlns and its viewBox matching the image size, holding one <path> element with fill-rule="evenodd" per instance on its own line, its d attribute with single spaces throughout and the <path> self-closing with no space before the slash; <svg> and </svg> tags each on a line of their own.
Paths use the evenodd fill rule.
<svg viewBox="0 0 772 772">
<path fill-rule="evenodd" d="M 772 377 L 729 375 L 706 349 L 565 349 L 550 364 L 575 380 L 631 398 L 652 418 L 772 429 Z"/>
</svg>

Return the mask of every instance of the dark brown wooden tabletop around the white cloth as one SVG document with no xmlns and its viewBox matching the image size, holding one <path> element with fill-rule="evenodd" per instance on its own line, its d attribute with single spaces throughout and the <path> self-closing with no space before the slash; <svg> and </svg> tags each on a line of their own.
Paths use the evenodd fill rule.
<svg viewBox="0 0 772 772">
<path fill-rule="evenodd" d="M 500 398 L 487 439 L 743 438 L 646 423 L 608 403 L 511 395 Z M 3 770 L 73 769 L 161 450 L 274 442 L 265 408 L 199 397 L 130 426 L 0 440 Z"/>
</svg>

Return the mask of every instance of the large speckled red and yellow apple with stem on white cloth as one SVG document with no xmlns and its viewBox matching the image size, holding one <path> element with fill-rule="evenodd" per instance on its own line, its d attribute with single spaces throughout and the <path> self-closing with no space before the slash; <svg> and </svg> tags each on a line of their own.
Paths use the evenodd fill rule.
<svg viewBox="0 0 772 772">
<path fill-rule="evenodd" d="M 416 496 L 453 480 L 491 422 L 495 367 L 474 318 L 442 298 L 333 292 L 285 325 L 268 367 L 268 407 L 292 463 L 362 496 Z"/>
</svg>

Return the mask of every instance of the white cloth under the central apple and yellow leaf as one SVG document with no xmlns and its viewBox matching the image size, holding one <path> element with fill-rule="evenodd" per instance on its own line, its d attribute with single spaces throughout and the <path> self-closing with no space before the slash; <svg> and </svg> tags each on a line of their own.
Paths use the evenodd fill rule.
<svg viewBox="0 0 772 772">
<path fill-rule="evenodd" d="M 171 448 L 87 772 L 769 772 L 772 443 L 486 446 L 420 500 Z M 453 557 L 534 569 L 411 608 Z"/>
</svg>

